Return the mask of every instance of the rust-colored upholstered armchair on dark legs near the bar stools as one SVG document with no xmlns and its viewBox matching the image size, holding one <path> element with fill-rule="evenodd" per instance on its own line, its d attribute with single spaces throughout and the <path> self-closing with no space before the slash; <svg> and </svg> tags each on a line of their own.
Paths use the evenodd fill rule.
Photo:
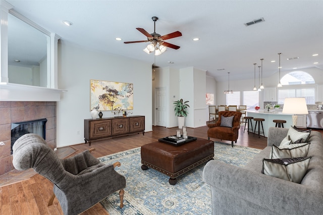
<svg viewBox="0 0 323 215">
<path fill-rule="evenodd" d="M 232 120 L 232 127 L 223 126 L 225 123 L 221 123 L 221 118 L 234 116 Z M 231 140 L 231 146 L 233 147 L 233 141 L 237 142 L 240 128 L 241 113 L 238 111 L 221 111 L 219 112 L 219 120 L 216 123 L 207 124 L 207 138 L 217 138 L 224 140 Z M 231 126 L 231 123 L 230 125 Z"/>
</svg>

